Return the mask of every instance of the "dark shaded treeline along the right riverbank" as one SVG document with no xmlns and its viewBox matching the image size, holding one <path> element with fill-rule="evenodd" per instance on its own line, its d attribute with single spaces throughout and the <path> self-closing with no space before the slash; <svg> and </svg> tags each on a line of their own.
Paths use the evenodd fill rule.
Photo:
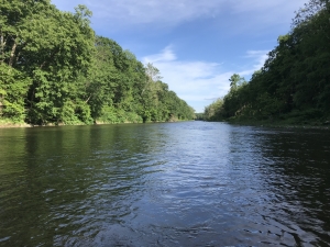
<svg viewBox="0 0 330 247">
<path fill-rule="evenodd" d="M 230 78 L 230 91 L 205 109 L 205 119 L 329 122 L 330 2 L 310 0 L 278 37 L 250 81 Z"/>
</svg>

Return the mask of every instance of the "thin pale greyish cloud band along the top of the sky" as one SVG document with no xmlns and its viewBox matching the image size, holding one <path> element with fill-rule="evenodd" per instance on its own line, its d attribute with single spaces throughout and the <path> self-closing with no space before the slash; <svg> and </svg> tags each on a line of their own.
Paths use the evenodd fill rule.
<svg viewBox="0 0 330 247">
<path fill-rule="evenodd" d="M 222 15 L 244 18 L 244 23 L 287 22 L 305 0 L 53 0 L 59 9 L 74 11 L 86 4 L 94 12 L 94 22 L 112 27 L 154 24 L 174 26 L 183 22 Z M 285 7 L 285 8 L 284 8 Z M 280 18 L 279 18 L 280 16 Z M 265 24 L 265 23 L 258 24 Z"/>
</svg>

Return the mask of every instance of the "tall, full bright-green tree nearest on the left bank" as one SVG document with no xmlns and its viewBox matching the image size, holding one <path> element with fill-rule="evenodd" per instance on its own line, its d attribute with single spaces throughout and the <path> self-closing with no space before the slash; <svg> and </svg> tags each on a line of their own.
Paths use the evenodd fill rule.
<svg viewBox="0 0 330 247">
<path fill-rule="evenodd" d="M 73 96 L 77 78 L 89 69 L 94 49 L 90 14 L 82 5 L 75 14 L 62 12 L 48 0 L 1 4 L 1 63 L 32 80 L 25 100 L 29 122 L 72 121 L 63 111 L 77 104 Z"/>
</svg>

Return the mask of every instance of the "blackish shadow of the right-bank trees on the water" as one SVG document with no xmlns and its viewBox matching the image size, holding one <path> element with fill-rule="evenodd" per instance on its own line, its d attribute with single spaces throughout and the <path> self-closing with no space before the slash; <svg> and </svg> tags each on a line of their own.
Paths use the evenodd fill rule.
<svg viewBox="0 0 330 247">
<path fill-rule="evenodd" d="M 330 133 L 290 130 L 263 138 L 264 173 L 277 204 L 272 220 L 290 226 L 297 245 L 329 246 Z"/>
</svg>

